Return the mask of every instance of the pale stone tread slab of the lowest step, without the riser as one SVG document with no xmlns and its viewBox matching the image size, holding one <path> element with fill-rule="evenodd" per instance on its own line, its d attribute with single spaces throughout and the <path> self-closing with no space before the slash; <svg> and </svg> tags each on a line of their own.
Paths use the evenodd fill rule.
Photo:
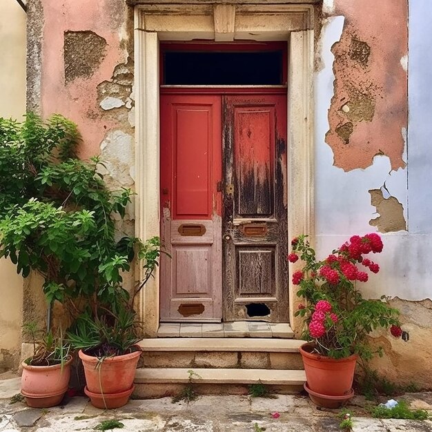
<svg viewBox="0 0 432 432">
<path fill-rule="evenodd" d="M 255 384 L 261 381 L 268 385 L 302 385 L 306 382 L 304 371 L 280 369 L 192 369 L 199 378 L 197 384 Z M 189 382 L 190 369 L 137 369 L 135 384 L 163 384 Z"/>
</svg>

